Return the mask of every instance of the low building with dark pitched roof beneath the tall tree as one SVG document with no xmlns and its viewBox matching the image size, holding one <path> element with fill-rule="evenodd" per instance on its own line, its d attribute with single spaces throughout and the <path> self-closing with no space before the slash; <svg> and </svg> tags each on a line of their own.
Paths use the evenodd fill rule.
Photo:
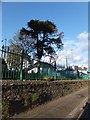
<svg viewBox="0 0 90 120">
<path fill-rule="evenodd" d="M 37 74 L 38 79 L 44 79 L 46 76 L 49 76 L 53 79 L 56 79 L 56 69 L 49 63 L 46 62 L 36 62 L 34 65 L 30 65 L 28 68 L 28 73 L 32 75 Z"/>
</svg>

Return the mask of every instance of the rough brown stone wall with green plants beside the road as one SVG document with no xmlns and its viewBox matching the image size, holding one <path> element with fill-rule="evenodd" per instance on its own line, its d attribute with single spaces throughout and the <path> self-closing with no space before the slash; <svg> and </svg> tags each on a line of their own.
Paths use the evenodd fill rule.
<svg viewBox="0 0 90 120">
<path fill-rule="evenodd" d="M 2 117 L 44 104 L 87 86 L 88 81 L 2 81 Z"/>
</svg>

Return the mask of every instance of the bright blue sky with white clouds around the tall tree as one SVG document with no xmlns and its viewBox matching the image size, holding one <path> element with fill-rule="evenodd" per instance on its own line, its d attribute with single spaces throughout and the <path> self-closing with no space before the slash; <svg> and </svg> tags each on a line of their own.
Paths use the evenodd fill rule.
<svg viewBox="0 0 90 120">
<path fill-rule="evenodd" d="M 50 20 L 64 32 L 57 64 L 64 65 L 67 57 L 68 65 L 88 65 L 87 2 L 2 2 L 2 39 L 11 39 L 31 19 Z"/>
</svg>

